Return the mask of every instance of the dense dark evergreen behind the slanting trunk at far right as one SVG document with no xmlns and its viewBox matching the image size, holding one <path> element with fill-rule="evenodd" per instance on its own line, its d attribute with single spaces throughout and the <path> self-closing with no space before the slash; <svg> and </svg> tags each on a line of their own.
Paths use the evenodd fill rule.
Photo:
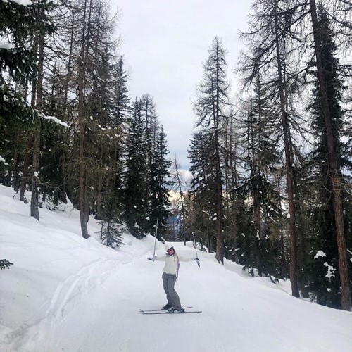
<svg viewBox="0 0 352 352">
<path fill-rule="evenodd" d="M 348 184 L 350 177 L 342 174 L 342 169 L 352 169 L 351 155 L 342 142 L 344 131 L 344 112 L 341 102 L 344 85 L 339 76 L 338 46 L 334 40 L 332 24 L 327 17 L 325 8 L 320 6 L 318 11 L 318 33 L 321 51 L 322 71 L 325 77 L 327 101 L 332 131 L 330 137 L 334 144 L 337 158 L 337 171 L 340 182 Z M 310 182 L 315 201 L 311 210 L 313 224 L 312 252 L 310 256 L 309 289 L 313 297 L 320 304 L 339 308 L 341 301 L 341 277 L 339 270 L 339 249 L 337 246 L 337 223 L 334 213 L 333 182 L 331 165 L 327 162 L 330 151 L 328 148 L 328 130 L 325 125 L 324 111 L 321 103 L 320 80 L 317 71 L 314 71 L 315 87 L 313 89 L 313 102 L 310 111 L 313 115 L 312 126 L 315 135 L 313 151 L 310 154 Z M 344 229 L 351 228 L 351 196 L 341 191 L 341 201 L 346 215 L 344 216 Z M 351 234 L 351 232 L 346 232 Z M 349 235 L 351 242 L 351 235 Z M 347 239 L 348 240 L 348 239 Z M 346 253 L 345 253 L 346 255 Z M 351 265 L 350 265 L 351 268 Z M 352 282 L 351 275 L 348 285 Z"/>
</svg>

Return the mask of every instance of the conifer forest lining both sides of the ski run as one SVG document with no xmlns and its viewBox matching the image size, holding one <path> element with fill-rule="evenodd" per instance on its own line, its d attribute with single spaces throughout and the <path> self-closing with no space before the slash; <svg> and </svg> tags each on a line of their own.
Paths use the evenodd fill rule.
<svg viewBox="0 0 352 352">
<path fill-rule="evenodd" d="M 191 180 L 153 96 L 129 94 L 118 11 L 0 0 L 0 184 L 37 220 L 69 199 L 85 239 L 90 215 L 114 249 L 125 230 L 195 238 L 218 263 L 351 310 L 352 2 L 253 0 L 235 74 L 213 38 L 189 112 Z"/>
</svg>

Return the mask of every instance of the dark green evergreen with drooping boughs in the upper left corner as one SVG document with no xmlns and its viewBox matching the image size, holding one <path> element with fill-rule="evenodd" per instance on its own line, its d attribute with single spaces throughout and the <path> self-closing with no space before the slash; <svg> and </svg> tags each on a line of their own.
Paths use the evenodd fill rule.
<svg viewBox="0 0 352 352">
<path fill-rule="evenodd" d="M 44 37 L 54 32 L 50 15 L 53 7 L 52 2 L 44 0 L 35 1 L 32 6 L 15 1 L 1 1 L 0 4 L 0 37 L 3 42 L 0 48 L 0 132 L 6 135 L 6 139 L 0 141 L 0 156 L 9 161 L 6 165 L 1 163 L 0 172 L 7 174 L 7 184 L 12 183 L 13 176 L 15 189 L 20 181 L 20 152 L 26 144 L 19 131 L 33 130 L 33 122 L 39 123 L 42 118 L 38 114 L 41 109 L 33 104 L 30 106 L 25 99 L 27 84 L 32 83 L 32 89 L 35 89 L 40 81 L 36 73 L 41 61 L 37 60 L 33 38 L 38 33 Z"/>
</svg>

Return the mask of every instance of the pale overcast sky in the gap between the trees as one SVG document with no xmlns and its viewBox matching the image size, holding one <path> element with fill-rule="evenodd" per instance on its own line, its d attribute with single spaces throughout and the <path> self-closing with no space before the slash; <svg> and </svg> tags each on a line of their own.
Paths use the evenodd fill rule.
<svg viewBox="0 0 352 352">
<path fill-rule="evenodd" d="M 120 9 L 121 54 L 130 68 L 132 101 L 149 93 L 168 137 L 169 157 L 189 168 L 187 149 L 193 132 L 196 85 L 215 36 L 227 49 L 227 75 L 234 69 L 246 30 L 248 0 L 114 0 Z M 112 6 L 113 7 L 113 6 Z"/>
</svg>

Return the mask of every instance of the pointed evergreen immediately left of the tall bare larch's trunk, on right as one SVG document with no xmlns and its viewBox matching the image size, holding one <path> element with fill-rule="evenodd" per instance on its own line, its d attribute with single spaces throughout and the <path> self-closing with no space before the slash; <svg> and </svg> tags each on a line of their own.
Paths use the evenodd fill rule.
<svg viewBox="0 0 352 352">
<path fill-rule="evenodd" d="M 247 177 L 242 184 L 246 199 L 250 200 L 247 215 L 248 229 L 245 247 L 246 264 L 257 268 L 259 275 L 278 275 L 279 270 L 273 265 L 277 255 L 277 240 L 272 224 L 278 220 L 280 195 L 275 186 L 275 167 L 279 166 L 277 150 L 277 132 L 272 125 L 271 112 L 268 108 L 268 92 L 257 77 L 251 110 L 244 121 L 244 139 L 246 140 L 245 168 Z M 275 246 L 276 243 L 276 246 Z M 270 247 L 276 250 L 269 250 Z"/>
</svg>

